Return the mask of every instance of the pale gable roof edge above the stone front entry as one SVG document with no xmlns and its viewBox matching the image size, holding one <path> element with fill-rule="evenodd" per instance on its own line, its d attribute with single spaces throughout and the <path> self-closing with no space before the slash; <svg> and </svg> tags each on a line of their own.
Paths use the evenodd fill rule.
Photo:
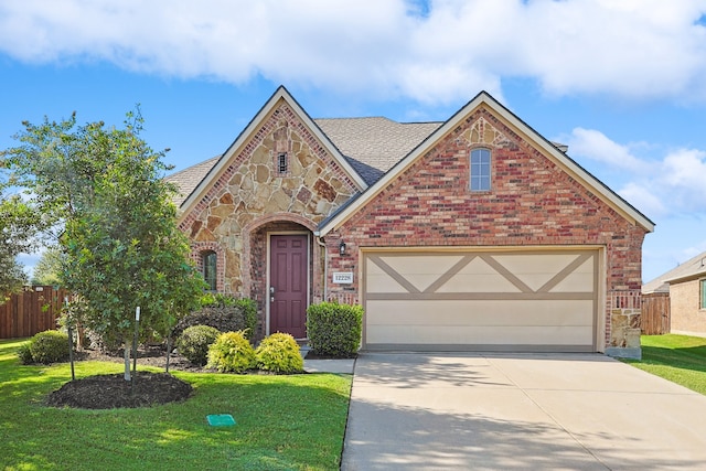
<svg viewBox="0 0 706 471">
<path fill-rule="evenodd" d="M 206 171 L 203 179 L 191 190 L 191 192 L 186 194 L 188 189 L 184 189 L 182 191 L 183 200 L 180 207 L 184 211 L 184 213 L 186 213 L 188 210 L 191 208 L 196 203 L 196 201 L 199 201 L 208 191 L 211 185 L 215 183 L 222 172 L 227 169 L 231 158 L 236 154 L 239 149 L 247 144 L 250 136 L 253 136 L 253 133 L 257 131 L 257 128 L 282 101 L 292 109 L 292 111 L 299 117 L 299 119 L 301 119 L 302 124 L 321 142 L 327 152 L 331 154 L 332 159 L 336 161 L 343 172 L 345 172 L 351 181 L 354 182 L 359 191 L 363 191 L 367 188 L 367 183 L 365 182 L 365 180 L 363 180 L 363 178 L 355 171 L 355 169 L 353 169 L 351 163 L 345 159 L 341 151 L 331 142 L 327 135 L 321 131 L 321 129 L 315 125 L 315 122 L 311 119 L 307 111 L 304 111 L 299 103 L 297 103 L 297 100 L 289 94 L 287 88 L 280 85 L 272 94 L 272 96 L 267 100 L 267 103 L 260 108 L 260 110 L 253 117 L 245 129 L 240 131 L 238 137 L 235 139 L 235 141 L 233 141 L 228 149 L 223 152 L 222 156 L 216 158 L 217 160 L 215 161 L 215 163 L 213 163 L 213 165 Z M 212 159 L 211 161 L 213 160 L 214 159 Z M 193 181 L 192 179 L 195 179 L 200 172 L 207 168 L 207 163 L 211 161 L 202 162 L 203 167 L 194 165 L 185 169 L 184 174 L 181 175 L 181 178 L 178 176 L 178 180 L 184 182 Z"/>
</svg>

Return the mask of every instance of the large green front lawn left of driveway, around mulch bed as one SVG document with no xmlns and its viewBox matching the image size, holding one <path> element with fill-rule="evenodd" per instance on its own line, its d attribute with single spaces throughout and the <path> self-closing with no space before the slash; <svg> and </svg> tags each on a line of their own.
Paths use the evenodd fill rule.
<svg viewBox="0 0 706 471">
<path fill-rule="evenodd" d="M 43 402 L 71 379 L 69 365 L 20 365 L 22 342 L 0 341 L 0 470 L 339 469 L 351 375 L 174 372 L 195 389 L 181 404 L 56 409 Z M 76 377 L 120 368 L 79 362 Z M 210 414 L 237 424 L 210 427 Z"/>
</svg>

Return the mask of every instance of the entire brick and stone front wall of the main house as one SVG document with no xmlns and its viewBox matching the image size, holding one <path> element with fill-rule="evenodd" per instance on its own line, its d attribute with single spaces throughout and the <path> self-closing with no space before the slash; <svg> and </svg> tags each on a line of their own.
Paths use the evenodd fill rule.
<svg viewBox="0 0 706 471">
<path fill-rule="evenodd" d="M 258 336 L 266 324 L 269 235 L 306 233 L 312 302 L 360 301 L 364 248 L 600 248 L 599 346 L 631 346 L 648 229 L 619 213 L 606 193 L 591 192 L 580 180 L 582 170 L 569 169 L 568 159 L 532 142 L 539 137 L 528 137 L 533 131 L 524 124 L 486 104 L 469 110 L 446 135 L 434 133 L 438 139 L 425 141 L 428 148 L 416 161 L 387 186 L 376 186 L 365 204 L 350 206 L 355 211 L 347 220 L 320 239 L 314 236 L 320 224 L 350 203 L 359 186 L 291 103 L 275 103 L 236 140 L 180 220 L 197 263 L 204 250 L 216 253 L 218 291 L 258 302 Z M 477 148 L 491 151 L 488 192 L 470 190 L 470 152 Z M 334 271 L 357 275 L 352 285 L 334 285 Z"/>
</svg>

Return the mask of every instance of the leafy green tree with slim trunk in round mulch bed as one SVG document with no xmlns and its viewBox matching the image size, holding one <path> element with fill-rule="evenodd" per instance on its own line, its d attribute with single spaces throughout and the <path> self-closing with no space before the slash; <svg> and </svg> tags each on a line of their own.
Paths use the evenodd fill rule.
<svg viewBox="0 0 706 471">
<path fill-rule="evenodd" d="M 139 334 L 168 334 L 197 306 L 203 279 L 190 261 L 189 240 L 176 227 L 174 188 L 162 179 L 165 151 L 140 138 L 139 108 L 124 129 L 103 122 L 24 124 L 22 146 L 3 152 L 15 184 L 30 190 L 47 221 L 63 223 L 61 278 L 86 304 L 86 327 L 125 345 L 126 379 L 141 308 Z"/>
</svg>

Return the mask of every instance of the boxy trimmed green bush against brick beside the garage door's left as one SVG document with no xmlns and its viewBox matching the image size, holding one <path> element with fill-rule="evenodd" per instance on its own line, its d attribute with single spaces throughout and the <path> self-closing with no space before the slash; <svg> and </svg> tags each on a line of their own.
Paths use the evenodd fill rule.
<svg viewBox="0 0 706 471">
<path fill-rule="evenodd" d="M 361 306 L 321 302 L 307 309 L 307 333 L 313 353 L 336 357 L 355 356 L 363 332 Z"/>
</svg>

